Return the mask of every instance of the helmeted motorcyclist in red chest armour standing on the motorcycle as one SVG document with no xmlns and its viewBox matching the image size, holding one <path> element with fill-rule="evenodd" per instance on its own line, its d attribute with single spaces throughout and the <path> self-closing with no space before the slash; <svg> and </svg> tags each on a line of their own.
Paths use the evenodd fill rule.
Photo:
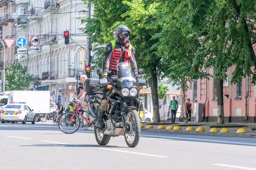
<svg viewBox="0 0 256 170">
<path fill-rule="evenodd" d="M 130 29 L 120 25 L 113 31 L 114 40 L 105 48 L 105 60 L 103 61 L 103 79 L 117 81 L 117 65 L 119 62 L 130 62 L 135 78 L 138 79 L 138 68 L 135 60 L 135 48 L 129 42 Z M 102 100 L 106 98 L 109 89 L 104 88 Z M 104 111 L 99 109 L 96 128 L 102 128 Z"/>
</svg>

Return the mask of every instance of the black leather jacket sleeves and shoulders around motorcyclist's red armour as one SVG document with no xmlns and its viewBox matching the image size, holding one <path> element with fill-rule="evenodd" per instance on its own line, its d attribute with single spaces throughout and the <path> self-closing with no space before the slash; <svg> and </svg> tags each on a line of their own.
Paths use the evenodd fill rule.
<svg viewBox="0 0 256 170">
<path fill-rule="evenodd" d="M 124 51 L 127 48 L 125 47 L 125 45 L 123 47 L 121 47 L 119 45 L 119 43 L 117 43 L 117 42 L 116 42 L 115 48 L 119 48 L 122 50 L 122 57 L 119 60 L 119 62 L 123 62 L 124 61 Z M 111 56 L 112 56 L 112 44 L 109 43 L 105 48 L 105 60 L 103 61 L 103 71 L 104 72 L 110 73 L 111 71 L 113 71 L 109 68 L 110 62 L 111 62 Z M 132 71 L 138 72 L 137 62 L 135 59 L 135 48 L 133 46 L 131 48 L 131 58 L 129 59 L 129 62 L 131 64 Z"/>
</svg>

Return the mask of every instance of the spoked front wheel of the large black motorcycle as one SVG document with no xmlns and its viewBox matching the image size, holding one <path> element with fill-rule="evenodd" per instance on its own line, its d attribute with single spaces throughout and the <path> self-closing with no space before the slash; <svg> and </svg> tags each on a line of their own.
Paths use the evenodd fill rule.
<svg viewBox="0 0 256 170">
<path fill-rule="evenodd" d="M 125 142 L 128 147 L 136 147 L 140 140 L 140 117 L 138 112 L 133 110 L 127 111 L 126 122 L 129 125 L 130 129 L 125 133 Z"/>
</svg>

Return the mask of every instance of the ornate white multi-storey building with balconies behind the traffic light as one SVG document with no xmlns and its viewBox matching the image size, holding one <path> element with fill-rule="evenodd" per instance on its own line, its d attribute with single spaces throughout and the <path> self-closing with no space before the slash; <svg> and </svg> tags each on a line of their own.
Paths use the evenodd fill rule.
<svg viewBox="0 0 256 170">
<path fill-rule="evenodd" d="M 75 76 L 86 73 L 84 68 L 89 59 L 87 35 L 83 34 L 85 25 L 75 19 L 88 16 L 87 6 L 81 0 L 15 0 L 15 5 L 15 38 L 24 37 L 28 42 L 28 57 L 20 62 L 28 66 L 28 74 L 40 77 L 41 82 L 39 87 L 30 89 L 49 90 L 52 102 L 60 100 L 67 106 L 76 96 Z M 65 45 L 64 31 L 69 31 L 79 45 L 71 39 Z M 40 52 L 31 52 L 35 48 L 30 42 L 32 36 L 40 38 Z"/>
</svg>

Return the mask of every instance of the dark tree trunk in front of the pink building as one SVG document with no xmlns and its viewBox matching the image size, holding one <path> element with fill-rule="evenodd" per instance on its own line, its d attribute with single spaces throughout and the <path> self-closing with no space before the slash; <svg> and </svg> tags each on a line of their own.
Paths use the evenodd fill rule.
<svg viewBox="0 0 256 170">
<path fill-rule="evenodd" d="M 218 104 L 218 124 L 224 124 L 224 105 L 223 105 L 223 80 L 216 80 L 217 104 Z"/>
</svg>

